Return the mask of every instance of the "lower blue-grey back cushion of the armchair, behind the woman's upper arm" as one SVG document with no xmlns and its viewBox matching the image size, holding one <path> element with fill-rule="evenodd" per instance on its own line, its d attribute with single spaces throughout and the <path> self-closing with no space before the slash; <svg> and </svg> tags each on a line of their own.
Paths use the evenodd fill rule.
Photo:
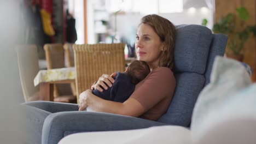
<svg viewBox="0 0 256 144">
<path fill-rule="evenodd" d="M 158 122 L 188 127 L 197 96 L 203 88 L 205 77 L 196 73 L 178 73 L 172 103 Z"/>
</svg>

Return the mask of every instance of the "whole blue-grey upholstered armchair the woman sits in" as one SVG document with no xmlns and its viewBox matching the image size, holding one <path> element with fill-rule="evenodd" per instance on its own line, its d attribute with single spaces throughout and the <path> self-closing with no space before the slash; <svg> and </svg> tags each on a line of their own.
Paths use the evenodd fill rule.
<svg viewBox="0 0 256 144">
<path fill-rule="evenodd" d="M 156 125 L 189 127 L 196 99 L 210 80 L 214 57 L 224 54 L 226 41 L 225 35 L 212 34 L 207 27 L 177 26 L 174 50 L 177 86 L 167 113 L 158 122 L 110 113 L 57 112 L 45 119 L 42 143 L 57 143 L 66 135 L 86 131 L 129 130 Z"/>
</svg>

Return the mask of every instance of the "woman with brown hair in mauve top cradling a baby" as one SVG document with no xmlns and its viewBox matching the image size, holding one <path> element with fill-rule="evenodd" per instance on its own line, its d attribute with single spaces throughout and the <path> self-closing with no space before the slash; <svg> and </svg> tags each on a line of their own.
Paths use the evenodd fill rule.
<svg viewBox="0 0 256 144">
<path fill-rule="evenodd" d="M 141 19 L 136 38 L 137 59 L 147 62 L 150 68 L 149 75 L 136 85 L 135 91 L 124 103 L 101 99 L 92 94 L 91 90 L 86 90 L 79 95 L 80 111 L 90 106 L 97 112 L 141 117 L 153 121 L 158 120 L 166 113 L 176 86 L 171 70 L 176 29 L 164 17 L 155 14 L 147 15 Z M 108 86 L 111 87 L 114 82 L 112 76 L 115 75 L 116 73 L 103 74 L 92 87 L 98 91 L 103 91 L 101 86 L 104 89 L 107 89 Z M 29 134 L 30 137 L 33 137 L 33 141 L 38 143 L 42 136 L 44 119 L 48 115 L 53 112 L 75 111 L 78 110 L 78 105 L 33 101 L 25 103 L 23 109 L 25 108 L 29 113 L 27 117 L 30 120 L 36 119 L 36 121 L 30 121 L 33 127 Z"/>
</svg>

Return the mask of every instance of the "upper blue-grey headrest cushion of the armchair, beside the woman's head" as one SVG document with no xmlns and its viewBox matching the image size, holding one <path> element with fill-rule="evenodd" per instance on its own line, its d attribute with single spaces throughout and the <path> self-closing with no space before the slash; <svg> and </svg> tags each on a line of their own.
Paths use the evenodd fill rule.
<svg viewBox="0 0 256 144">
<path fill-rule="evenodd" d="M 212 31 L 199 25 L 176 26 L 177 39 L 174 48 L 175 71 L 204 74 Z"/>
</svg>

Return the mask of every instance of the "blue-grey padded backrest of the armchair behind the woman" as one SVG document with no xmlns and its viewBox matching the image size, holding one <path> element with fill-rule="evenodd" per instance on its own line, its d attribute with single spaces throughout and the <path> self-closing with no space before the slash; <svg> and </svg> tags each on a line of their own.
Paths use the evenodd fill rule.
<svg viewBox="0 0 256 144">
<path fill-rule="evenodd" d="M 165 115 L 158 121 L 189 127 L 196 99 L 210 81 L 214 58 L 223 56 L 228 37 L 200 25 L 176 26 L 174 76 L 176 90 Z"/>
</svg>

